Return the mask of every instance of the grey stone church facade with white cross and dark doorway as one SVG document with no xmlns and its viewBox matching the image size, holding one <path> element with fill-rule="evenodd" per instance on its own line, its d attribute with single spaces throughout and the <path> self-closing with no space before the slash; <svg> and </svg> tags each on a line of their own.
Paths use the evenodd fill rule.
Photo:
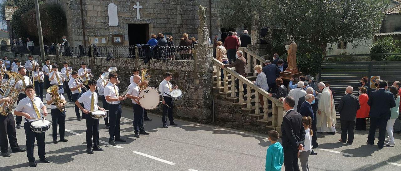
<svg viewBox="0 0 401 171">
<path fill-rule="evenodd" d="M 219 34 L 219 0 L 46 0 L 60 4 L 67 16 L 71 45 L 146 44 L 150 35 L 182 34 L 198 38 L 198 6 L 207 7 L 211 38 Z M 211 9 L 211 10 L 210 10 Z M 43 22 L 43 21 L 42 21 Z"/>
</svg>

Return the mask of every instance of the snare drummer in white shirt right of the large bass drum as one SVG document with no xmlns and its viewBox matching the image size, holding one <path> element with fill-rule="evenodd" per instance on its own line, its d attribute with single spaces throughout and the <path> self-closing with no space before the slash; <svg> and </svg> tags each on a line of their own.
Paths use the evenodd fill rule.
<svg viewBox="0 0 401 171">
<path fill-rule="evenodd" d="M 166 72 L 166 74 L 164 74 L 164 80 L 160 83 L 159 85 L 159 90 L 162 92 L 164 99 L 163 99 L 163 104 L 166 104 L 163 106 L 163 127 L 164 128 L 168 128 L 167 126 L 167 119 L 166 119 L 166 115 L 168 115 L 168 120 L 170 121 L 170 125 L 177 125 L 176 123 L 174 123 L 174 118 L 173 118 L 173 107 L 174 107 L 174 103 L 170 97 L 170 93 L 173 90 L 172 89 L 172 85 L 170 83 L 170 80 L 172 79 L 172 74 L 170 72 Z M 174 89 L 177 89 L 178 87 L 175 86 Z M 170 107 L 168 107 L 168 106 Z"/>
</svg>

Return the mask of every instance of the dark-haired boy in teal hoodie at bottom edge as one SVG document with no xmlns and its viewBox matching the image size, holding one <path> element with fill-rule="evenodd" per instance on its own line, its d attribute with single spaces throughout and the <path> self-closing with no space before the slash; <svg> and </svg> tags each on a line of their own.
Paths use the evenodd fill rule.
<svg viewBox="0 0 401 171">
<path fill-rule="evenodd" d="M 283 146 L 279 142 L 278 132 L 269 131 L 269 141 L 271 145 L 267 148 L 266 153 L 266 171 L 281 171 L 284 162 Z"/>
</svg>

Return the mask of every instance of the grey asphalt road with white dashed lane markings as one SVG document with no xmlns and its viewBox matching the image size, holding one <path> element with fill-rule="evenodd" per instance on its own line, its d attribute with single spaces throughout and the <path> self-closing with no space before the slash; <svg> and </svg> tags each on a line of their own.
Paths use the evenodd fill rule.
<svg viewBox="0 0 401 171">
<path fill-rule="evenodd" d="M 132 109 L 123 108 L 122 137 L 125 143 L 107 145 L 108 130 L 100 123 L 101 147 L 104 151 L 85 152 L 85 120 L 77 121 L 73 104 L 66 106 L 66 138 L 68 142 L 53 144 L 51 131 L 46 132 L 46 157 L 51 163 L 40 163 L 33 170 L 140 170 L 140 171 L 260 171 L 265 169 L 266 149 L 270 145 L 266 135 L 225 129 L 188 121 L 176 120 L 178 126 L 162 127 L 159 115 L 149 114 L 145 129 L 150 135 L 133 136 Z M 50 116 L 48 118 L 51 118 Z M 25 133 L 17 129 L 18 143 L 25 148 Z M 379 150 L 366 145 L 367 132 L 356 131 L 353 145 L 337 143 L 340 134 L 319 134 L 319 154 L 310 157 L 310 169 L 321 171 L 400 170 L 401 136 L 396 135 L 395 147 Z M 11 152 L 11 150 L 9 150 Z M 0 157 L 0 170 L 32 169 L 26 153 L 11 153 Z M 392 164 L 389 164 L 392 163 Z M 283 169 L 284 170 L 284 169 Z"/>
</svg>

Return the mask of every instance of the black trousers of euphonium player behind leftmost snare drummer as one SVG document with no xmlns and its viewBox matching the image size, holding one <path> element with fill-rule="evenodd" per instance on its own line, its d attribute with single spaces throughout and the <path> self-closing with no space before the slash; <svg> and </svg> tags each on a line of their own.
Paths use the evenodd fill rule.
<svg viewBox="0 0 401 171">
<path fill-rule="evenodd" d="M 57 140 L 57 125 L 59 125 L 60 139 L 64 139 L 65 135 L 65 111 L 59 109 L 51 109 L 51 119 L 53 126 L 53 140 Z"/>
</svg>

